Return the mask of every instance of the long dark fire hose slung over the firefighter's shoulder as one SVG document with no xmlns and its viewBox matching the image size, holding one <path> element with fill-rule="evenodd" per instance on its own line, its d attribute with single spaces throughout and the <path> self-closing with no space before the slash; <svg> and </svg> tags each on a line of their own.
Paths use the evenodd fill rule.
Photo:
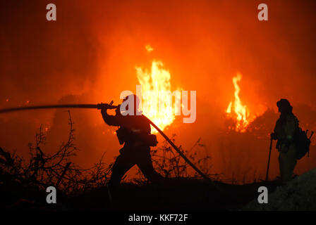
<svg viewBox="0 0 316 225">
<path fill-rule="evenodd" d="M 11 112 L 22 111 L 22 110 L 39 110 L 39 109 L 49 109 L 49 108 L 97 108 L 98 110 L 100 110 L 102 108 L 102 105 L 107 105 L 107 108 L 109 109 L 115 109 L 119 107 L 119 105 L 112 105 L 112 103 L 113 101 L 110 104 L 34 105 L 34 106 L 25 106 L 25 107 L 18 107 L 18 108 L 4 108 L 4 109 L 0 109 L 0 113 L 11 113 Z M 164 132 L 161 129 L 159 129 L 159 127 L 157 127 L 156 124 L 154 124 L 145 115 L 142 114 L 142 116 L 145 117 L 145 119 L 150 124 L 152 124 L 152 127 L 157 129 L 159 134 L 161 134 L 164 137 L 164 139 L 168 141 L 168 143 L 174 148 L 174 150 L 177 151 L 179 155 L 181 155 L 183 160 L 185 160 L 188 163 L 188 165 L 190 165 L 198 174 L 200 174 L 200 176 L 202 176 L 204 179 L 209 181 L 215 188 L 217 188 L 217 186 L 215 186 L 214 183 L 212 182 L 212 179 L 210 179 L 207 175 L 205 175 L 202 171 L 200 171 L 200 169 L 198 169 L 193 164 L 193 162 L 191 162 L 188 158 L 186 158 L 186 155 L 184 155 L 181 152 L 181 150 L 174 144 L 174 142 L 172 142 L 171 139 L 169 139 L 169 137 L 166 136 L 166 134 L 164 134 Z"/>
</svg>

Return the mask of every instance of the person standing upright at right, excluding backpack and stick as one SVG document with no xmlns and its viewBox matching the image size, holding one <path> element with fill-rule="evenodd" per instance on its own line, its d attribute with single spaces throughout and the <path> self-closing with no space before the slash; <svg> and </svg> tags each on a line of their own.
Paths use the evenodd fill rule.
<svg viewBox="0 0 316 225">
<path fill-rule="evenodd" d="M 280 117 L 274 127 L 272 139 L 277 140 L 279 151 L 279 170 L 284 183 L 290 181 L 296 166 L 295 134 L 298 129 L 298 119 L 292 113 L 292 106 L 288 100 L 281 98 L 277 102 Z"/>
</svg>

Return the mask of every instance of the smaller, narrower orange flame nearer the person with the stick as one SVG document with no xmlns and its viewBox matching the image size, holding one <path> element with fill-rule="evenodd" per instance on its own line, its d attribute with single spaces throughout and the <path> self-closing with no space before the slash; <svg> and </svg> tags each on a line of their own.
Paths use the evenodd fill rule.
<svg viewBox="0 0 316 225">
<path fill-rule="evenodd" d="M 241 75 L 238 74 L 236 77 L 233 77 L 233 86 L 235 87 L 235 100 L 229 103 L 229 106 L 226 110 L 227 116 L 236 120 L 236 126 L 233 127 L 236 131 L 245 131 L 246 127 L 250 122 L 253 122 L 255 117 L 251 117 L 249 110 L 246 105 L 241 103 L 241 98 L 239 98 L 239 92 L 241 91 L 238 86 L 238 82 L 241 81 Z"/>
</svg>

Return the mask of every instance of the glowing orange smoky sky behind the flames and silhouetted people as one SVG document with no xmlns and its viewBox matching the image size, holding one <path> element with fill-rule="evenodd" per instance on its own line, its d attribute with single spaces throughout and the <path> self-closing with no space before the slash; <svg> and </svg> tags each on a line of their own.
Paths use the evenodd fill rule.
<svg viewBox="0 0 316 225">
<path fill-rule="evenodd" d="M 56 4 L 56 21 L 46 20 L 49 3 Z M 177 134 L 184 148 L 201 137 L 217 172 L 260 173 L 269 140 L 223 131 L 224 111 L 233 100 L 232 78 L 243 75 L 240 96 L 250 113 L 274 112 L 260 120 L 265 127 L 260 136 L 273 129 L 279 98 L 288 98 L 302 126 L 312 129 L 316 115 L 315 1 L 265 1 L 268 21 L 257 20 L 260 3 L 1 1 L 0 108 L 117 103 L 121 91 L 135 91 L 135 66 L 149 69 L 157 59 L 170 71 L 173 89 L 197 91 L 196 122 L 176 120 L 166 133 Z M 145 51 L 146 44 L 152 53 Z M 71 115 L 81 149 L 78 162 L 90 165 L 104 151 L 118 154 L 115 128 L 107 127 L 99 112 L 72 110 Z M 0 123 L 0 146 L 27 152 L 44 124 L 47 149 L 54 150 L 66 139 L 68 113 L 13 113 L 0 115 Z M 241 152 L 249 159 L 238 158 Z"/>
</svg>

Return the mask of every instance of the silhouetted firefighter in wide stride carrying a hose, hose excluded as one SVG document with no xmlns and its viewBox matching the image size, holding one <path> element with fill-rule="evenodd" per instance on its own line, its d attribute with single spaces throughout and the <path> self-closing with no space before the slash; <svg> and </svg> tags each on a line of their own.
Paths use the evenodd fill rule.
<svg viewBox="0 0 316 225">
<path fill-rule="evenodd" d="M 116 190 L 124 174 L 134 165 L 138 165 L 142 174 L 152 182 L 164 179 L 152 166 L 150 155 L 150 142 L 152 141 L 148 140 L 150 136 L 150 123 L 138 111 L 138 96 L 134 94 L 126 96 L 123 99 L 123 103 L 127 100 L 130 102 L 131 98 L 133 99 L 134 106 L 133 115 L 122 115 L 120 107 L 116 108 L 116 115 L 108 115 L 107 104 L 102 104 L 101 113 L 104 122 L 110 126 L 119 126 L 116 135 L 119 138 L 120 144 L 124 143 L 123 148 L 119 150 L 120 155 L 116 158 L 111 169 L 111 179 L 109 181 L 111 191 Z M 126 110 L 128 110 L 129 106 L 130 104 L 126 106 Z M 152 146 L 156 144 L 157 142 L 152 144 Z"/>
</svg>

